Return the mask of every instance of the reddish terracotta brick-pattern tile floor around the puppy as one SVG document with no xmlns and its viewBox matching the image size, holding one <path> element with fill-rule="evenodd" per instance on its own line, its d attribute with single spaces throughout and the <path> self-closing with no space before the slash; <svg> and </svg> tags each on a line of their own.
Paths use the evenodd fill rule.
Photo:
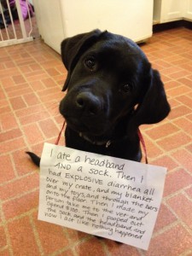
<svg viewBox="0 0 192 256">
<path fill-rule="evenodd" d="M 192 255 L 192 31 L 155 33 L 142 48 L 172 105 L 163 122 L 142 127 L 149 162 L 168 167 L 148 252 L 37 220 L 38 169 L 25 151 L 55 142 L 67 71 L 36 39 L 0 49 L 0 255 Z"/>
</svg>

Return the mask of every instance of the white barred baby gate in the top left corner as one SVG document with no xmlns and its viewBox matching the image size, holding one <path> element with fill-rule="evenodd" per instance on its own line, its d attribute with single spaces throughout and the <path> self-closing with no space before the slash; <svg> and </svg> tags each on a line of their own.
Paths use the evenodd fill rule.
<svg viewBox="0 0 192 256">
<path fill-rule="evenodd" d="M 28 0 L 23 0 L 22 4 L 26 4 L 27 20 L 24 20 L 21 12 L 20 0 L 15 0 L 15 10 L 18 15 L 18 20 L 15 20 L 12 15 L 12 10 L 9 0 L 0 0 L 0 47 L 11 44 L 21 44 L 32 41 L 32 12 L 29 9 L 30 3 Z M 6 5 L 6 7 L 5 7 Z M 6 16 L 5 16 L 6 13 Z M 9 24 L 6 17 L 9 16 Z"/>
</svg>

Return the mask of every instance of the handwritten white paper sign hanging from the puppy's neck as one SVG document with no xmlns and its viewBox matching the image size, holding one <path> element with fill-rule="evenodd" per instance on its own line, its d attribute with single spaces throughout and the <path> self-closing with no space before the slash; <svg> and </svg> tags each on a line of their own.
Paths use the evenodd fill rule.
<svg viewBox="0 0 192 256">
<path fill-rule="evenodd" d="M 38 219 L 148 249 L 166 168 L 45 143 Z"/>
</svg>

